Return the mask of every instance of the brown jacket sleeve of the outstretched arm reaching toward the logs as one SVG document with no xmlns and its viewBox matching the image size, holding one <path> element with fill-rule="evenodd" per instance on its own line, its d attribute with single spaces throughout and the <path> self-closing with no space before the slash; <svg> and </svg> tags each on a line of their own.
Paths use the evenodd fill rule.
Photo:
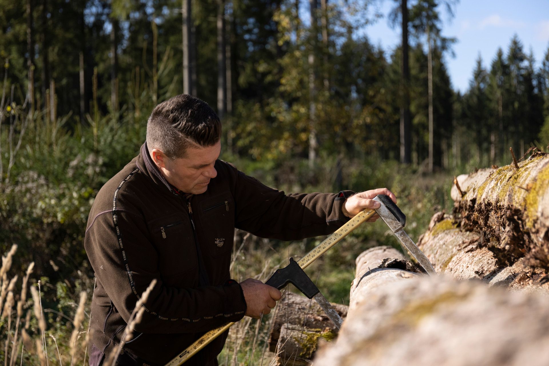
<svg viewBox="0 0 549 366">
<path fill-rule="evenodd" d="M 333 233 L 349 220 L 341 206 L 352 191 L 286 195 L 231 168 L 236 171 L 234 196 L 239 229 L 262 238 L 301 240 Z"/>
</svg>

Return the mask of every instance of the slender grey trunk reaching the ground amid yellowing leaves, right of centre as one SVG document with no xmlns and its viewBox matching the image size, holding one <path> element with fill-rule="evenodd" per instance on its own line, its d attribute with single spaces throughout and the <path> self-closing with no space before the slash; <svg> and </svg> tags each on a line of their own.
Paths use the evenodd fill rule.
<svg viewBox="0 0 549 366">
<path fill-rule="evenodd" d="M 317 42 L 317 18 L 316 12 L 318 8 L 317 0 L 309 0 L 310 15 L 311 15 L 311 37 L 309 51 L 309 167 L 315 166 L 316 153 L 318 148 L 318 140 L 316 136 L 316 77 L 315 77 L 315 51 Z"/>
</svg>

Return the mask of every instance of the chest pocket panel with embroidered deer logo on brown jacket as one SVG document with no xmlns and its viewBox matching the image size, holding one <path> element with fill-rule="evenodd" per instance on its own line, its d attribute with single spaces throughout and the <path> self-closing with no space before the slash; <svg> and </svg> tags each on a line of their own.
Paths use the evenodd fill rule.
<svg viewBox="0 0 549 366">
<path fill-rule="evenodd" d="M 212 257 L 230 255 L 234 237 L 234 201 L 231 195 L 219 195 L 201 202 L 200 227 Z"/>
</svg>

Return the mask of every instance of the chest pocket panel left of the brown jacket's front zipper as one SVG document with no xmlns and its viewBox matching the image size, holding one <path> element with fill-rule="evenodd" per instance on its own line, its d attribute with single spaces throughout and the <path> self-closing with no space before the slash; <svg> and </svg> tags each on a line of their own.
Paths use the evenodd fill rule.
<svg viewBox="0 0 549 366">
<path fill-rule="evenodd" d="M 197 249 L 188 218 L 172 215 L 155 219 L 149 227 L 164 280 L 198 267 Z"/>
</svg>

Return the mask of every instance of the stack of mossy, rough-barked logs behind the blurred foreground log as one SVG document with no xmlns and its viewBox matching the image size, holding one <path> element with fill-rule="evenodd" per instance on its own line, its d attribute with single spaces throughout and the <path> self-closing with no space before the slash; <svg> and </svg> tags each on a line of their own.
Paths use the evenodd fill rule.
<svg viewBox="0 0 549 366">
<path fill-rule="evenodd" d="M 437 272 L 549 290 L 549 154 L 518 166 L 457 177 L 452 215 L 433 216 L 418 243 Z"/>
</svg>

